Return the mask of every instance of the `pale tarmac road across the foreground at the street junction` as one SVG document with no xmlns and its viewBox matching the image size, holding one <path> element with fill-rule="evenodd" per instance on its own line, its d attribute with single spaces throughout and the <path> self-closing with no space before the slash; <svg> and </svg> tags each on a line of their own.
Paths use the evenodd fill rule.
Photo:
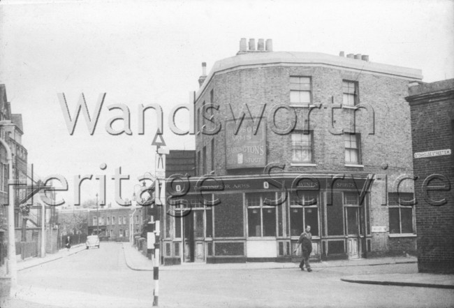
<svg viewBox="0 0 454 308">
<path fill-rule="evenodd" d="M 453 306 L 452 289 L 350 284 L 340 280 L 354 274 L 416 271 L 414 263 L 314 267 L 311 273 L 295 268 L 162 270 L 159 307 Z M 36 308 L 152 306 L 153 273 L 130 270 L 122 245 L 117 243 L 101 243 L 101 249 L 83 250 L 22 270 L 18 280 L 30 290 L 18 300 L 44 305 Z"/>
</svg>

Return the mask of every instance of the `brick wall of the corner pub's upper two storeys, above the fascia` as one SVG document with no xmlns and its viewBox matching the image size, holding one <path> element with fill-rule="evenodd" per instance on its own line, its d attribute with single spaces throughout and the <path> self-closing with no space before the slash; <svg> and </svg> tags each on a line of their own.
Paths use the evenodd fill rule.
<svg viewBox="0 0 454 308">
<path fill-rule="evenodd" d="M 220 105 L 214 117 L 221 121 L 223 129 L 215 136 L 215 161 L 217 175 L 235 175 L 261 173 L 262 170 L 226 170 L 225 168 L 225 122 L 231 119 L 232 106 L 235 117 L 240 114 L 244 103 L 249 105 L 253 115 L 258 115 L 261 104 L 265 107 L 264 121 L 267 121 L 272 106 L 278 103 L 290 103 L 291 75 L 312 76 L 312 97 L 314 103 L 322 103 L 321 109 L 311 112 L 310 129 L 314 130 L 314 163 L 315 167 L 291 167 L 291 135 L 277 135 L 267 125 L 267 162 L 279 161 L 286 163 L 288 171 L 321 171 L 355 173 L 358 171 L 383 172 L 381 163 L 388 163 L 385 173 L 411 173 L 411 129 L 409 105 L 404 100 L 408 94 L 409 80 L 378 76 L 368 73 L 351 73 L 334 68 L 301 68 L 275 66 L 270 68 L 249 68 L 216 75 L 207 86 L 205 96 L 201 96 L 196 109 L 201 108 L 203 101 L 209 101 L 210 89 L 214 88 L 214 101 Z M 360 103 L 372 105 L 375 113 L 375 134 L 369 132 L 367 112 L 357 111 L 356 125 L 362 134 L 361 152 L 363 169 L 346 168 L 344 166 L 344 139 L 343 135 L 332 135 L 328 131 L 330 122 L 329 109 L 324 108 L 331 103 L 342 103 L 342 80 L 358 80 Z M 307 119 L 307 108 L 295 108 L 297 113 L 296 129 L 303 129 L 304 119 Z M 335 128 L 348 129 L 350 127 L 353 110 L 335 110 Z M 288 125 L 288 112 L 277 112 L 275 123 L 279 127 Z M 210 124 L 210 122 L 207 122 Z M 196 152 L 207 147 L 207 158 L 210 158 L 210 142 L 213 136 L 197 135 Z M 207 159 L 207 168 L 210 170 L 210 159 Z"/>
</svg>

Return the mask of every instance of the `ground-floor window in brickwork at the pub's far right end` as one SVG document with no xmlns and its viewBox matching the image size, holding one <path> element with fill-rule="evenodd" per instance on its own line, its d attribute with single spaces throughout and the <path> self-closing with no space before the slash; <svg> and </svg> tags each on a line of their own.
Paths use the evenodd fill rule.
<svg viewBox="0 0 454 308">
<path fill-rule="evenodd" d="M 389 233 L 413 233 L 413 193 L 388 193 Z"/>
</svg>

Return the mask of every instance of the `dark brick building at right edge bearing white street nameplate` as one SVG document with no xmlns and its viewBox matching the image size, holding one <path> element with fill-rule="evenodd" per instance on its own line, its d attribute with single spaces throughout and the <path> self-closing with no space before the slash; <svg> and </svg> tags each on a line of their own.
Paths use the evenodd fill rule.
<svg viewBox="0 0 454 308">
<path fill-rule="evenodd" d="M 418 270 L 454 272 L 454 79 L 414 83 L 411 108 Z"/>
</svg>

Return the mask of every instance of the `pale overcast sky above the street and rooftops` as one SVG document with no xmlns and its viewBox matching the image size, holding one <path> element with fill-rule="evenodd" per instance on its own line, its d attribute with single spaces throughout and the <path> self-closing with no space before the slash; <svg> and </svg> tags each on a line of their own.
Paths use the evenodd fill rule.
<svg viewBox="0 0 454 308">
<path fill-rule="evenodd" d="M 240 38 L 272 38 L 274 51 L 369 54 L 370 61 L 419 68 L 425 82 L 454 78 L 453 1 L 13 1 L 0 2 L 0 84 L 13 113 L 21 113 L 23 144 L 41 177 L 68 179 L 73 203 L 75 175 L 131 175 L 154 170 L 151 146 L 156 122 L 138 135 L 138 106 L 188 103 L 198 89 L 201 62 L 233 57 Z M 94 135 L 80 122 L 66 129 L 57 93 L 73 114 L 81 93 L 90 112 L 106 93 Z M 131 111 L 133 135 L 109 135 L 108 105 Z M 150 112 L 150 115 L 152 112 Z M 187 116 L 179 118 L 187 125 Z M 82 120 L 83 118 L 80 118 Z M 120 124 L 120 123 L 117 123 Z M 167 129 L 170 149 L 194 149 L 191 136 Z M 106 163 L 103 171 L 99 168 Z M 136 187 L 137 188 L 137 187 Z M 94 198 L 96 183 L 82 185 Z"/>
</svg>

